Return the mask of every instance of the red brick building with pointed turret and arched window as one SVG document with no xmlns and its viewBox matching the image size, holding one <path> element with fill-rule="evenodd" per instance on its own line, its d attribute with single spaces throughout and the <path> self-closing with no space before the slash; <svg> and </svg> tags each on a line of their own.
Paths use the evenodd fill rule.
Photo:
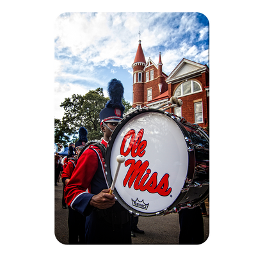
<svg viewBox="0 0 256 256">
<path fill-rule="evenodd" d="M 132 64 L 132 108 L 154 108 L 174 95 L 183 105 L 166 111 L 206 128 L 211 120 L 211 69 L 183 58 L 167 76 L 162 66 L 161 52 L 157 65 L 150 58 L 146 62 L 140 40 Z"/>
</svg>

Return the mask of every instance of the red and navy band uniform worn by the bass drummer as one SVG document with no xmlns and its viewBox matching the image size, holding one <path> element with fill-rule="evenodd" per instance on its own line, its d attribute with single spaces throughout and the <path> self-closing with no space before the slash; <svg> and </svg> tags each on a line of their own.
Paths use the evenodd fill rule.
<svg viewBox="0 0 256 256">
<path fill-rule="evenodd" d="M 107 146 L 107 142 L 102 140 Z M 117 201 L 108 209 L 100 210 L 90 205 L 92 196 L 108 189 L 104 159 L 100 149 L 90 145 L 77 161 L 64 196 L 68 206 L 86 218 L 87 244 L 131 245 L 130 214 Z"/>
</svg>

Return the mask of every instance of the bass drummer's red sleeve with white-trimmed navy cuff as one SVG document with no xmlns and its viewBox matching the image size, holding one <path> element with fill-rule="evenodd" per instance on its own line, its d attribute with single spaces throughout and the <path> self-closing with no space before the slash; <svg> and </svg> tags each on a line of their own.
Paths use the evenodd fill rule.
<svg viewBox="0 0 256 256">
<path fill-rule="evenodd" d="M 93 196 L 93 194 L 87 193 L 86 189 L 90 191 L 90 183 L 97 168 L 97 154 L 94 150 L 88 148 L 79 157 L 72 177 L 65 187 L 64 197 L 66 203 L 81 214 L 84 214 Z"/>
</svg>

